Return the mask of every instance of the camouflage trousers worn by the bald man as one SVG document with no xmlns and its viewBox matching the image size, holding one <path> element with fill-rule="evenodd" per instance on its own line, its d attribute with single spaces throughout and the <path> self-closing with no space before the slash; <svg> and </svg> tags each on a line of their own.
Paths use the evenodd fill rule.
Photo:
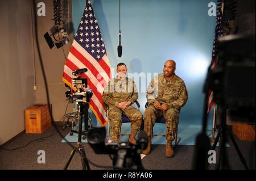
<svg viewBox="0 0 256 181">
<path fill-rule="evenodd" d="M 164 116 L 166 120 L 166 140 L 175 140 L 176 127 L 179 124 L 179 110 L 170 108 L 169 110 L 161 111 L 152 104 L 146 108 L 144 115 L 144 131 L 147 133 L 147 136 L 152 137 L 155 120 L 159 116 Z"/>
</svg>

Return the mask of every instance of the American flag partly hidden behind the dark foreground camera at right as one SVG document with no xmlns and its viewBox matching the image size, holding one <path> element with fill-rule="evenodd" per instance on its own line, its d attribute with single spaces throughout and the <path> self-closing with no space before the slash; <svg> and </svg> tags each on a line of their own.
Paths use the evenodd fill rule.
<svg viewBox="0 0 256 181">
<path fill-rule="evenodd" d="M 222 3 L 223 6 L 223 3 Z M 218 9 L 218 15 L 217 15 L 217 20 L 216 20 L 216 27 L 215 27 L 215 35 L 214 35 L 214 40 L 213 40 L 213 50 L 212 50 L 212 62 L 210 63 L 210 68 L 214 69 L 217 66 L 217 61 L 218 61 L 218 47 L 217 47 L 217 40 L 218 37 L 223 36 L 223 16 L 222 16 L 222 11 L 221 7 Z M 214 105 L 214 100 L 213 100 L 213 91 L 209 90 L 209 96 L 208 96 L 208 109 L 207 112 L 210 112 L 210 109 Z"/>
</svg>

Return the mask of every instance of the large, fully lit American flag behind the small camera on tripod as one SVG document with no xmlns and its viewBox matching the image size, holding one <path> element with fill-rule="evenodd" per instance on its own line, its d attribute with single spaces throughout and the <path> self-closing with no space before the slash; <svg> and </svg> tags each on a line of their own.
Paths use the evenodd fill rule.
<svg viewBox="0 0 256 181">
<path fill-rule="evenodd" d="M 98 122 L 104 126 L 107 119 L 102 92 L 111 78 L 111 66 L 98 22 L 88 0 L 64 65 L 63 82 L 72 87 L 72 71 L 82 68 L 88 69 L 81 77 L 87 78 L 88 89 L 93 92 L 90 109 L 96 115 Z"/>
</svg>

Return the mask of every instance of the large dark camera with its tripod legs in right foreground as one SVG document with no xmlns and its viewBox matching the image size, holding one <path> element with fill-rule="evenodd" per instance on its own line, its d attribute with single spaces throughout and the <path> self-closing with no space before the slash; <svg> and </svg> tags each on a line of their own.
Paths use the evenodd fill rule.
<svg viewBox="0 0 256 181">
<path fill-rule="evenodd" d="M 208 90 L 213 90 L 213 100 L 218 105 L 220 116 L 218 134 L 211 148 L 214 150 L 220 140 L 216 169 L 229 168 L 225 150 L 227 136 L 230 137 L 241 163 L 248 169 L 232 131 L 226 124 L 226 109 L 229 108 L 229 116 L 234 121 L 255 123 L 255 35 L 219 37 L 217 46 L 217 66 L 214 69 L 209 68 L 204 89 L 207 92 L 205 103 L 208 99 Z M 205 169 L 208 166 L 206 151 L 209 150 L 210 143 L 205 134 L 206 125 L 207 106 L 204 112 L 203 132 L 196 138 L 196 169 Z"/>
</svg>

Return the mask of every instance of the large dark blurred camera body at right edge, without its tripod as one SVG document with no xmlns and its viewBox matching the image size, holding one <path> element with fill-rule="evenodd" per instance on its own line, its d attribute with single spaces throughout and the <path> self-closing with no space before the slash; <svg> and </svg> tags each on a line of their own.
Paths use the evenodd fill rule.
<svg viewBox="0 0 256 181">
<path fill-rule="evenodd" d="M 220 37 L 217 67 L 209 69 L 207 83 L 231 119 L 255 121 L 255 35 Z"/>
</svg>

